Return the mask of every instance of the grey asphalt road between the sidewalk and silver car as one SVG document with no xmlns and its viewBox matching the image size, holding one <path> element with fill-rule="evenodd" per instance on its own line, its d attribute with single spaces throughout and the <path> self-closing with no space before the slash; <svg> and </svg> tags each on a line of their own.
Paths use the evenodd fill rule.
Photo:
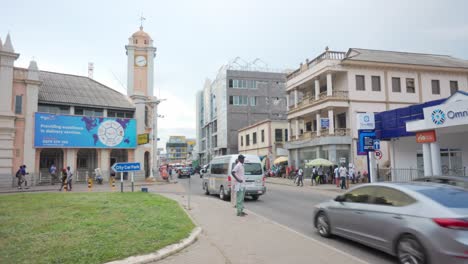
<svg viewBox="0 0 468 264">
<path fill-rule="evenodd" d="M 188 179 L 179 179 L 179 182 L 187 189 Z M 192 195 L 204 195 L 198 175 L 192 176 L 190 184 Z M 258 201 L 246 201 L 246 208 L 369 263 L 396 263 L 395 258 L 378 250 L 338 237 L 325 239 L 315 232 L 312 225 L 312 210 L 315 204 L 328 200 L 334 195 L 328 192 L 313 192 L 300 187 L 269 184 L 267 193 Z M 216 196 L 213 196 L 213 199 L 217 199 Z"/>
</svg>

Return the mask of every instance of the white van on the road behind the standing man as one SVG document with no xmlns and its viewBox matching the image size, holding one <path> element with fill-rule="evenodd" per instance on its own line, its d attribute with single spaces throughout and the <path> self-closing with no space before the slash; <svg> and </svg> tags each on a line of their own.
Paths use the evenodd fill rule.
<svg viewBox="0 0 468 264">
<path fill-rule="evenodd" d="M 202 187 L 205 194 L 217 194 L 223 200 L 229 200 L 231 186 L 236 179 L 231 175 L 239 155 L 215 157 L 203 174 Z M 265 194 L 265 177 L 260 158 L 255 155 L 244 155 L 245 196 L 257 200 Z"/>
</svg>

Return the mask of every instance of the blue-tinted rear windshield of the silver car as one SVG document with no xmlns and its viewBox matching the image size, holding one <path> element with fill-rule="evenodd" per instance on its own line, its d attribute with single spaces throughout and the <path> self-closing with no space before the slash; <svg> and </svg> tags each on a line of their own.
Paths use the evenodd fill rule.
<svg viewBox="0 0 468 264">
<path fill-rule="evenodd" d="M 449 208 L 468 209 L 468 192 L 458 188 L 424 188 L 417 192 Z"/>
</svg>

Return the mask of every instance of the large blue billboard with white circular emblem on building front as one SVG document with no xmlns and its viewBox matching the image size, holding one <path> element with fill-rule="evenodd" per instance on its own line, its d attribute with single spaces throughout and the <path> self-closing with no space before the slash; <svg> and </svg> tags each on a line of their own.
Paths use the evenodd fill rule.
<svg viewBox="0 0 468 264">
<path fill-rule="evenodd" d="M 34 146 L 136 148 L 136 120 L 36 113 Z"/>
</svg>

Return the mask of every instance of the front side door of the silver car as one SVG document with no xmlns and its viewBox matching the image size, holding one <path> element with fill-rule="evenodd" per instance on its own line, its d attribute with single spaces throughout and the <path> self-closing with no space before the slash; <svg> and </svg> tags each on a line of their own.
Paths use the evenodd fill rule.
<svg viewBox="0 0 468 264">
<path fill-rule="evenodd" d="M 365 186 L 344 194 L 343 202 L 334 202 L 329 207 L 333 232 L 353 240 L 364 239 L 361 222 L 365 207 L 372 202 L 373 187 Z"/>
</svg>

